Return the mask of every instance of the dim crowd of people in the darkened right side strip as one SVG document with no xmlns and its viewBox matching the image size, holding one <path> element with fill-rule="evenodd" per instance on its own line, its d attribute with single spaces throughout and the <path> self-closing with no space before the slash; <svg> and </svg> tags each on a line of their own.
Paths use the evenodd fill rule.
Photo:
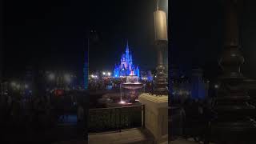
<svg viewBox="0 0 256 144">
<path fill-rule="evenodd" d="M 194 138 L 200 141 L 206 138 L 210 122 L 214 119 L 214 99 L 190 99 L 187 98 L 182 104 L 174 106 L 172 112 L 173 123 L 171 134 Z"/>
</svg>

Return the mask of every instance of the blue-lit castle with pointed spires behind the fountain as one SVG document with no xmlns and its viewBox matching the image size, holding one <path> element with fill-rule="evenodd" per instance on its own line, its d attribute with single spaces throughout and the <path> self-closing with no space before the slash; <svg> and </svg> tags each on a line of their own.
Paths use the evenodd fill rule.
<svg viewBox="0 0 256 144">
<path fill-rule="evenodd" d="M 138 66 L 134 66 L 133 58 L 129 51 L 128 41 L 126 44 L 126 53 L 122 54 L 120 64 L 114 66 L 114 78 L 125 77 L 128 75 L 137 75 L 139 77 Z"/>
</svg>

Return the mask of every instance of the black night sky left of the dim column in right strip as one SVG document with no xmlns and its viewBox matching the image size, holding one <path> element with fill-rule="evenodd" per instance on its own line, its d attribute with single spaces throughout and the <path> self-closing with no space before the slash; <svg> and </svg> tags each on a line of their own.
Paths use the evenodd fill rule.
<svg viewBox="0 0 256 144">
<path fill-rule="evenodd" d="M 184 70 L 202 67 L 216 73 L 222 46 L 221 2 L 171 1 L 170 20 L 170 63 Z"/>
</svg>

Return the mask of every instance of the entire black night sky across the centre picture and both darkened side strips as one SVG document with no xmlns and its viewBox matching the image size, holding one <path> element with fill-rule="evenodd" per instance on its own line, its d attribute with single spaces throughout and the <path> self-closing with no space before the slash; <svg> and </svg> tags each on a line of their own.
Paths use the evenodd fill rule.
<svg viewBox="0 0 256 144">
<path fill-rule="evenodd" d="M 162 8 L 166 10 L 165 2 Z M 216 75 L 222 49 L 222 0 L 169 0 L 170 63 L 184 69 L 201 66 Z M 100 40 L 90 48 L 90 68 L 112 70 L 129 39 L 134 64 L 155 66 L 154 0 L 18 1 L 6 0 L 4 18 L 6 74 L 39 62 L 48 69 L 82 73 L 86 33 Z M 256 4 L 245 0 L 241 43 L 244 73 L 256 78 Z"/>
</svg>

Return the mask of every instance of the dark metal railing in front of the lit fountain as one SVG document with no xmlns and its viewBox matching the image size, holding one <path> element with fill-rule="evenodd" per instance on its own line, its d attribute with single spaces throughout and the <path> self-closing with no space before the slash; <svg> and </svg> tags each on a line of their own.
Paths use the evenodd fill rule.
<svg viewBox="0 0 256 144">
<path fill-rule="evenodd" d="M 144 118 L 144 105 L 90 109 L 89 132 L 121 131 L 123 129 L 144 127 Z"/>
</svg>

